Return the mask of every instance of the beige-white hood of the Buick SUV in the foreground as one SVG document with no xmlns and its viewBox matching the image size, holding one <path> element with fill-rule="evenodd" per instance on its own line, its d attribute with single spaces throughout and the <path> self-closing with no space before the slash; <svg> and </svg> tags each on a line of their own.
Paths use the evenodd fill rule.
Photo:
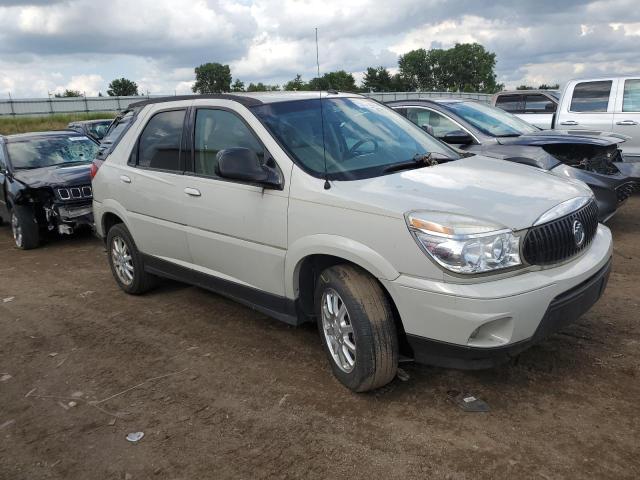
<svg viewBox="0 0 640 480">
<path fill-rule="evenodd" d="M 565 200 L 592 196 L 582 182 L 480 155 L 382 177 L 335 182 L 328 192 L 340 197 L 335 199 L 337 204 L 370 213 L 402 217 L 411 210 L 444 211 L 513 230 L 530 227 Z"/>
</svg>

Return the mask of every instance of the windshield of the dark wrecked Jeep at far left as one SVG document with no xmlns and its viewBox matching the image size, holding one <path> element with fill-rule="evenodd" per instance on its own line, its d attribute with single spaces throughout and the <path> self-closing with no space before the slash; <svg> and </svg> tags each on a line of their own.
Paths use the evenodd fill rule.
<svg viewBox="0 0 640 480">
<path fill-rule="evenodd" d="M 98 146 L 84 136 L 50 137 L 9 142 L 7 151 L 11 165 L 19 170 L 91 162 Z"/>
</svg>

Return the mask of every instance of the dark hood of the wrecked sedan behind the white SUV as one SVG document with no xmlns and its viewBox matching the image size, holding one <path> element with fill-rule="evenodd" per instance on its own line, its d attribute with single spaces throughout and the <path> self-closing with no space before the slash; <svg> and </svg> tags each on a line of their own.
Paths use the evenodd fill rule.
<svg viewBox="0 0 640 480">
<path fill-rule="evenodd" d="M 581 145 L 598 145 L 610 147 L 624 142 L 628 137 L 613 132 L 597 132 L 593 130 L 541 130 L 519 137 L 496 138 L 500 145 L 543 146 L 559 143 Z"/>
</svg>

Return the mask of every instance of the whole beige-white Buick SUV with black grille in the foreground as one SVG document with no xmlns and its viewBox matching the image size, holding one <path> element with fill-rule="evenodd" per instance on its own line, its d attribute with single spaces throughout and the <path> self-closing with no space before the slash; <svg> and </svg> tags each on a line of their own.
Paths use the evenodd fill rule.
<svg viewBox="0 0 640 480">
<path fill-rule="evenodd" d="M 391 381 L 399 359 L 504 361 L 588 310 L 611 266 L 583 183 L 460 158 L 358 95 L 141 102 L 93 175 L 125 292 L 169 277 L 317 321 L 355 391 Z"/>
</svg>

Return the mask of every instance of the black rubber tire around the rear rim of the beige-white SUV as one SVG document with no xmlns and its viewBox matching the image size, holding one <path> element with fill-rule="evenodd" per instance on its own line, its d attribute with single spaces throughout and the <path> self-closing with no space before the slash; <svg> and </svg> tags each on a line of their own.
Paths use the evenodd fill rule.
<svg viewBox="0 0 640 480">
<path fill-rule="evenodd" d="M 119 241 L 126 245 L 128 255 L 131 257 L 130 264 L 132 271 L 130 272 L 131 279 L 129 282 L 125 281 L 127 278 L 122 273 L 122 270 L 116 265 L 116 259 L 113 254 L 115 245 Z M 131 295 L 140 295 L 148 292 L 158 284 L 158 277 L 151 275 L 144 270 L 142 254 L 136 247 L 129 230 L 122 223 L 114 225 L 107 233 L 107 257 L 109 259 L 109 266 L 111 267 L 113 278 L 115 278 L 118 286 L 126 293 Z M 122 266 L 122 264 L 120 264 L 120 266 Z"/>
</svg>

